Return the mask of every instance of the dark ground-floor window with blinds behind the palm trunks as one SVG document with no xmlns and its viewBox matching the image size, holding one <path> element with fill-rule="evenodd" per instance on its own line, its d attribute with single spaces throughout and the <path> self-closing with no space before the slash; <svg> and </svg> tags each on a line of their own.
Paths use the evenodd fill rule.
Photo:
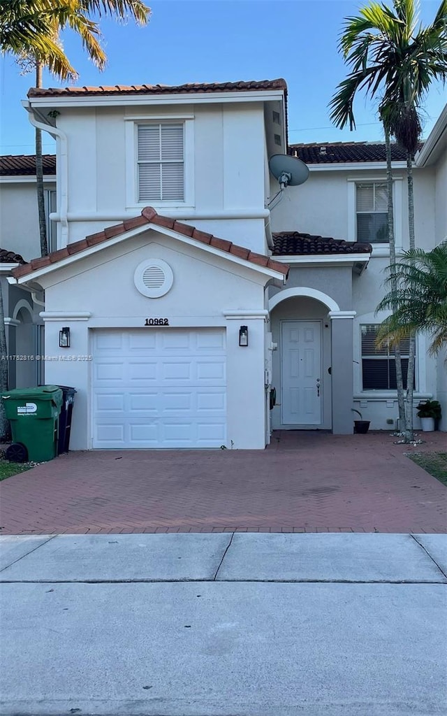
<svg viewBox="0 0 447 716">
<path fill-rule="evenodd" d="M 366 324 L 361 327 L 362 334 L 362 387 L 363 390 L 397 390 L 396 359 L 393 349 L 383 346 L 375 347 L 378 326 Z M 410 340 L 401 341 L 401 361 L 403 387 L 407 387 L 408 352 Z M 413 387 L 415 387 L 413 385 Z"/>
</svg>

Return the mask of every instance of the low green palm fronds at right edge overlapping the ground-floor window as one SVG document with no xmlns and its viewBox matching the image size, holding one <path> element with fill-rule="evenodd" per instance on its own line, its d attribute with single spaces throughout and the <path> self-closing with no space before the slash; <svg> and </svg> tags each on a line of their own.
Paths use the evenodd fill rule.
<svg viewBox="0 0 447 716">
<path fill-rule="evenodd" d="M 378 347 L 422 332 L 431 336 L 428 353 L 438 354 L 447 345 L 447 241 L 432 251 L 405 251 L 390 270 L 397 276 L 398 291 L 391 289 L 376 309 L 393 311 L 380 325 Z M 386 283 L 390 284 L 389 276 Z"/>
</svg>

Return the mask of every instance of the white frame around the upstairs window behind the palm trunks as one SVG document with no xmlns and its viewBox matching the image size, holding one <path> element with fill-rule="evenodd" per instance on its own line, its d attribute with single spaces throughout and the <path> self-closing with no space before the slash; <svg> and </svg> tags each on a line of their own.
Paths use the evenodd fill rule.
<svg viewBox="0 0 447 716">
<path fill-rule="evenodd" d="M 396 243 L 397 252 L 403 250 L 402 181 L 402 177 L 393 177 L 394 241 Z M 348 241 L 357 241 L 357 185 L 379 183 L 386 183 L 386 175 L 362 175 L 355 178 L 348 178 Z M 371 246 L 373 247 L 372 256 L 390 255 L 389 243 L 371 243 Z"/>
</svg>

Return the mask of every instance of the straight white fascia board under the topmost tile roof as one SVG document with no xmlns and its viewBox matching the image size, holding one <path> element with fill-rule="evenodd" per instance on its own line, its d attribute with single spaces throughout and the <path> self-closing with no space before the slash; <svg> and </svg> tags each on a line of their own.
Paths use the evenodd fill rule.
<svg viewBox="0 0 447 716">
<path fill-rule="evenodd" d="M 29 105 L 38 110 L 39 107 L 122 107 L 144 105 L 158 107 L 162 105 L 202 105 L 222 104 L 228 102 L 268 102 L 284 97 L 283 89 L 260 89 L 255 92 L 197 92 L 180 95 L 86 95 L 64 96 L 46 95 L 30 97 Z"/>
</svg>

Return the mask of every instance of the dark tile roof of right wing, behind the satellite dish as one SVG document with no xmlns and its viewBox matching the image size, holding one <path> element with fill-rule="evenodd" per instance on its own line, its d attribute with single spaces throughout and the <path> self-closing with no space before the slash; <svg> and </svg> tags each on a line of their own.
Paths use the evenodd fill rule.
<svg viewBox="0 0 447 716">
<path fill-rule="evenodd" d="M 421 143 L 421 148 L 423 145 Z M 313 142 L 291 144 L 289 153 L 306 164 L 385 162 L 385 142 Z M 391 145 L 393 162 L 406 161 L 406 152 L 396 142 Z"/>
</svg>

